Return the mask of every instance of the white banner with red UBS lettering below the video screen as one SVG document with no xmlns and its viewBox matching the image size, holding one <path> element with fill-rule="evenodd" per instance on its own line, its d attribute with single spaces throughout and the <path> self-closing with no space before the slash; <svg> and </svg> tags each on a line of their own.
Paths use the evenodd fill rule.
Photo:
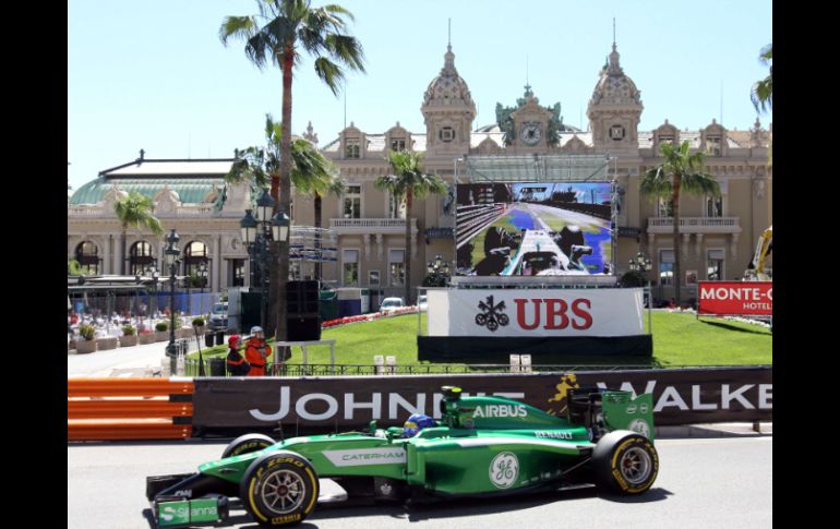
<svg viewBox="0 0 840 529">
<path fill-rule="evenodd" d="M 640 288 L 430 290 L 429 336 L 644 334 Z"/>
</svg>

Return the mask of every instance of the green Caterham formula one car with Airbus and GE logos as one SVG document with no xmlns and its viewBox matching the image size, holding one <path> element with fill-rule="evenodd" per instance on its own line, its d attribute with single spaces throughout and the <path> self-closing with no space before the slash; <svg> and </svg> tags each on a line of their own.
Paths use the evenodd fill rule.
<svg viewBox="0 0 840 529">
<path fill-rule="evenodd" d="M 406 437 L 400 428 L 275 442 L 233 441 L 221 459 L 189 474 L 146 479 L 158 527 L 215 524 L 236 497 L 263 527 L 295 525 L 319 503 L 319 478 L 347 497 L 497 496 L 593 483 L 640 494 L 656 480 L 652 396 L 569 390 L 565 417 L 503 397 L 444 387 L 441 419 Z M 329 498 L 322 498 L 328 501 Z"/>
</svg>

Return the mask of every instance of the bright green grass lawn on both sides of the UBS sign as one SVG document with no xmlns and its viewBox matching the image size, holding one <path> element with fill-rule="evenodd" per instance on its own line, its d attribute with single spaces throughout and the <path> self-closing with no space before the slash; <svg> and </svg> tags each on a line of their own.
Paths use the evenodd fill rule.
<svg viewBox="0 0 840 529">
<path fill-rule="evenodd" d="M 645 314 L 646 330 L 647 322 Z M 336 340 L 337 364 L 372 365 L 375 354 L 394 356 L 400 365 L 428 363 L 417 360 L 417 314 L 328 328 L 321 336 Z M 227 353 L 223 346 L 202 349 L 205 357 Z M 302 363 L 302 356 L 296 347 L 289 363 Z M 329 347 L 310 347 L 308 363 L 328 364 Z M 638 361 L 616 359 L 614 363 L 637 364 Z M 693 314 L 655 311 L 653 364 L 665 368 L 772 364 L 772 334 L 758 325 L 711 317 L 697 320 Z"/>
</svg>

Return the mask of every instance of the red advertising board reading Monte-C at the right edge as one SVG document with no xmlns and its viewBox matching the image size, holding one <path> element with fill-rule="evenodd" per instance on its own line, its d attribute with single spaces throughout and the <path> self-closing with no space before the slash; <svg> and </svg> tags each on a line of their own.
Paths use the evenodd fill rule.
<svg viewBox="0 0 840 529">
<path fill-rule="evenodd" d="M 772 281 L 699 281 L 699 314 L 771 316 Z"/>
</svg>

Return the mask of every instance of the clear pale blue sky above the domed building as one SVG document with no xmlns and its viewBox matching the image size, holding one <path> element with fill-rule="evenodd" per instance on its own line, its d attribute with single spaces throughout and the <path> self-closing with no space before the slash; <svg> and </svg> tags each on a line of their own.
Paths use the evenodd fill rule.
<svg viewBox="0 0 840 529">
<path fill-rule="evenodd" d="M 697 130 L 712 118 L 752 127 L 752 84 L 767 75 L 757 57 L 772 41 L 772 2 L 707 0 L 331 0 L 356 16 L 367 74 L 347 81 L 347 124 L 384 132 L 397 121 L 424 132 L 423 92 L 443 67 L 447 19 L 455 65 L 478 105 L 473 127 L 492 123 L 496 103 L 515 105 L 526 75 L 542 105 L 560 101 L 580 127 L 612 45 L 641 91 L 640 130 L 665 119 Z M 314 5 L 326 1 L 314 0 Z M 281 77 L 253 67 L 243 45 L 218 39 L 226 15 L 252 14 L 254 0 L 68 2 L 68 177 L 77 189 L 98 171 L 148 158 L 230 157 L 259 145 L 266 112 L 279 120 Z M 527 63 L 527 71 L 526 71 Z M 771 113 L 760 116 L 766 127 Z M 312 121 L 321 145 L 345 124 L 335 97 L 304 60 L 293 84 L 292 132 Z M 586 123 L 583 124 L 586 129 Z"/>
</svg>

